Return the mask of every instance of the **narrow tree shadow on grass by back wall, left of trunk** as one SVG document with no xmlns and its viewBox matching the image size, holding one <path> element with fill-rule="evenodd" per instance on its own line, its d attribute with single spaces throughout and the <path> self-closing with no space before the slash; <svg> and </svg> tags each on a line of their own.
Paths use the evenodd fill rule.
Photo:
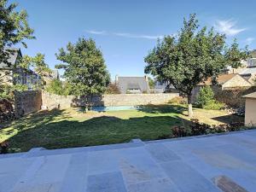
<svg viewBox="0 0 256 192">
<path fill-rule="evenodd" d="M 143 105 L 137 108 L 138 111 L 145 113 L 183 113 L 187 108 L 183 105 Z"/>
</svg>

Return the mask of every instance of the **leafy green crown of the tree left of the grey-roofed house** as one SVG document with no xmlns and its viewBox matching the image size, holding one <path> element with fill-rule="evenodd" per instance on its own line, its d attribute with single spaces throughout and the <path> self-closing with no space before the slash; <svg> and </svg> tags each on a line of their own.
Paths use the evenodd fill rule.
<svg viewBox="0 0 256 192">
<path fill-rule="evenodd" d="M 102 94 L 106 90 L 110 76 L 103 59 L 102 51 L 94 40 L 79 38 L 76 44 L 67 44 L 67 49 L 59 49 L 56 54 L 63 64 L 56 68 L 65 70 L 63 77 L 71 84 L 76 96 Z"/>
</svg>

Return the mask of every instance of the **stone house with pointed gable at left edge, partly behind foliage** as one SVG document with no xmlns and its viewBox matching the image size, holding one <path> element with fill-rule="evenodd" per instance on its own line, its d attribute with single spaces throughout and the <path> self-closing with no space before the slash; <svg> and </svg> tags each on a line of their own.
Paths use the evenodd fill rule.
<svg viewBox="0 0 256 192">
<path fill-rule="evenodd" d="M 9 48 L 9 63 L 0 63 L 0 73 L 4 84 L 26 84 L 32 90 L 40 84 L 41 77 L 29 68 L 20 67 L 22 58 L 20 49 Z"/>
</svg>

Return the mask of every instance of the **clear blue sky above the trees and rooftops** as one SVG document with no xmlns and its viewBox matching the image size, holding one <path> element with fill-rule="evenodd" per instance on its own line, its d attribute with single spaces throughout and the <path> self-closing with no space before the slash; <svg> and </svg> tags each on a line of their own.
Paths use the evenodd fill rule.
<svg viewBox="0 0 256 192">
<path fill-rule="evenodd" d="M 102 49 L 112 78 L 142 76 L 143 58 L 157 38 L 175 34 L 183 17 L 196 13 L 201 26 L 215 26 L 237 38 L 241 47 L 256 48 L 256 1 L 168 0 L 12 0 L 26 9 L 36 40 L 27 41 L 23 55 L 45 54 L 49 67 L 55 53 L 79 37 L 93 38 Z"/>
</svg>

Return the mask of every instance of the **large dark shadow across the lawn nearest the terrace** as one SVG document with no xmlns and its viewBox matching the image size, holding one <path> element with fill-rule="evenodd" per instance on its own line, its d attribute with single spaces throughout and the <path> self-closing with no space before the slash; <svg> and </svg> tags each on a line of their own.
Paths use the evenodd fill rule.
<svg viewBox="0 0 256 192">
<path fill-rule="evenodd" d="M 73 148 L 130 142 L 132 138 L 154 140 L 172 137 L 173 125 L 186 125 L 186 119 L 177 116 L 154 116 L 119 119 L 101 116 L 84 121 L 60 119 L 63 111 L 52 111 L 38 119 L 26 119 L 19 132 L 9 138 L 11 152 L 30 148 Z M 35 122 L 36 121 L 36 122 Z"/>
</svg>

